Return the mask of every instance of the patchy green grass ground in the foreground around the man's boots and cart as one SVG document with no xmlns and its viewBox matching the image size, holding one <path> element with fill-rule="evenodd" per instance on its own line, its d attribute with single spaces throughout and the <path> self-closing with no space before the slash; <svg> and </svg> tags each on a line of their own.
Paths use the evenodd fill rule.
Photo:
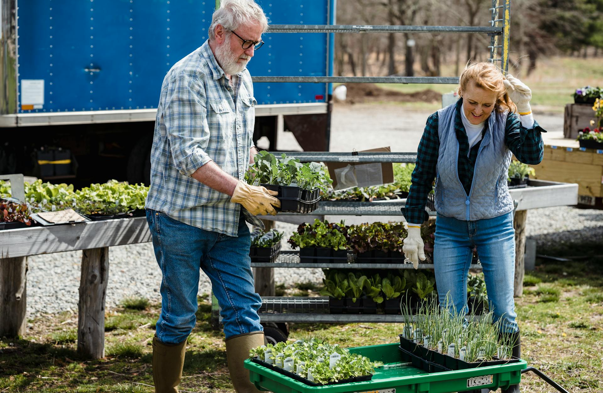
<svg viewBox="0 0 603 393">
<path fill-rule="evenodd" d="M 547 250 L 555 256 L 579 250 L 589 257 L 538 260 L 526 275 L 523 297 L 516 299 L 522 357 L 573 393 L 603 390 L 603 256 L 594 243 Z M 309 283 L 297 287 L 286 293 L 308 295 L 317 289 Z M 78 356 L 77 315 L 30 321 L 27 336 L 0 339 L 0 392 L 153 392 L 151 338 L 159 307 L 128 299 L 108 311 L 101 360 Z M 318 337 L 354 347 L 396 342 L 401 329 L 401 324 L 295 324 L 289 338 Z M 180 391 L 233 392 L 224 349 L 223 334 L 210 326 L 210 305 L 200 298 Z M 525 374 L 522 391 L 553 390 Z"/>
</svg>

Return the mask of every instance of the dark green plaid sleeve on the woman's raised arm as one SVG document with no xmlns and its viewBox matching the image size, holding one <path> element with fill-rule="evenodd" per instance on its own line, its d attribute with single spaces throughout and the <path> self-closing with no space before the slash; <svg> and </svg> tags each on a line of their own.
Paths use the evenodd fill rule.
<svg viewBox="0 0 603 393">
<path fill-rule="evenodd" d="M 541 133 L 546 131 L 536 121 L 531 128 L 526 128 L 515 113 L 507 116 L 505 144 L 520 162 L 537 165 L 542 161 L 545 145 Z"/>
</svg>

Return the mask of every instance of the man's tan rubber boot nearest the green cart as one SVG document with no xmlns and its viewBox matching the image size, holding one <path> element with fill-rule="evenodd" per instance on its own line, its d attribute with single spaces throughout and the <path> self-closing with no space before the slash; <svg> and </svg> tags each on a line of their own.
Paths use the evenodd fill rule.
<svg viewBox="0 0 603 393">
<path fill-rule="evenodd" d="M 259 393 L 260 391 L 249 380 L 249 370 L 243 366 L 243 361 L 249 359 L 251 348 L 264 345 L 264 332 L 251 332 L 236 335 L 226 340 L 226 358 L 230 380 L 236 393 Z"/>
</svg>

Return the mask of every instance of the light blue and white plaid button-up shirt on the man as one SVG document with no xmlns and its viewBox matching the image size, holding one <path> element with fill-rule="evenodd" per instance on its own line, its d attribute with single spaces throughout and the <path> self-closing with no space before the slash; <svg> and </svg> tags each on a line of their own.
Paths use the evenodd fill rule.
<svg viewBox="0 0 603 393">
<path fill-rule="evenodd" d="M 213 160 L 243 179 L 249 165 L 256 99 L 251 75 L 233 75 L 230 86 L 209 42 L 163 79 L 146 206 L 208 231 L 236 236 L 241 205 L 191 177 Z"/>
</svg>

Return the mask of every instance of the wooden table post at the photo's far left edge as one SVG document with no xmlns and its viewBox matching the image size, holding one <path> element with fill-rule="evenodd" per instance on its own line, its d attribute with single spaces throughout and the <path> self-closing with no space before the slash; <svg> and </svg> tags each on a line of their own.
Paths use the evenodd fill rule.
<svg viewBox="0 0 603 393">
<path fill-rule="evenodd" d="M 0 259 L 0 336 L 25 335 L 27 257 Z"/>
</svg>

